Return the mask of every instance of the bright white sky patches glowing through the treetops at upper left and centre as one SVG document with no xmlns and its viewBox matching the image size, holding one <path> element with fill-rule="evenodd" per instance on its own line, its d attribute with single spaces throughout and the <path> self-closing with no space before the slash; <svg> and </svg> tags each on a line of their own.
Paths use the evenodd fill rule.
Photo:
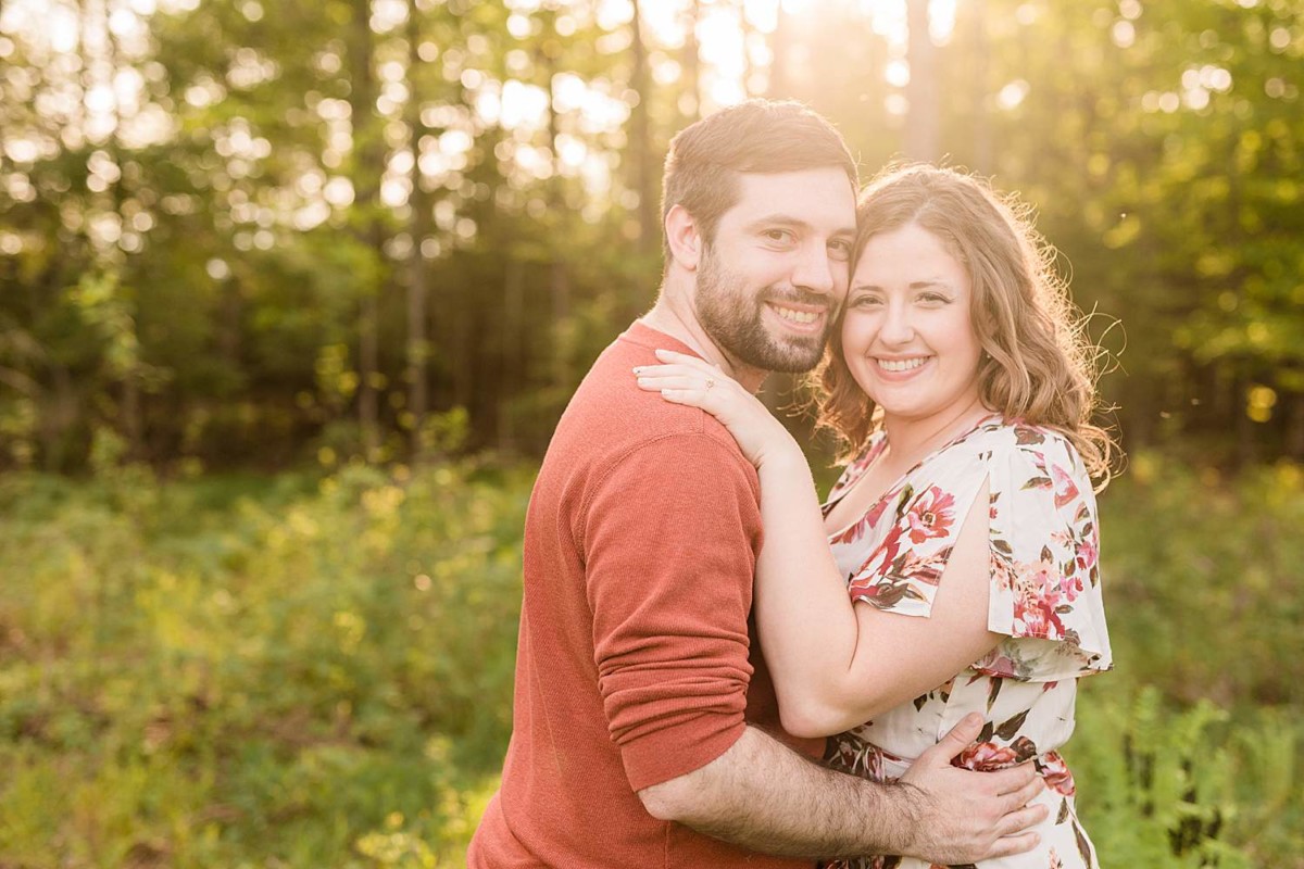
<svg viewBox="0 0 1304 869">
<path fill-rule="evenodd" d="M 930 4 L 931 34 L 939 44 L 951 36 L 956 3 L 932 0 Z M 190 108 L 202 109 L 219 103 L 230 90 L 250 90 L 282 74 L 275 60 L 253 47 L 240 47 L 224 81 L 210 77 L 190 82 L 183 94 L 159 99 L 159 86 L 166 94 L 167 73 L 151 59 L 151 20 L 155 16 L 190 13 L 198 5 L 200 0 L 99 0 L 83 3 L 78 9 L 78 4 L 67 0 L 5 3 L 0 14 L 0 60 L 16 51 L 17 42 L 29 63 L 44 70 L 42 82 L 17 81 L 25 78 L 23 69 L 17 66 L 8 76 L 18 91 L 39 89 L 35 109 L 47 121 L 42 129 L 7 130 L 5 154 L 21 168 L 38 159 L 51 159 L 60 145 L 68 150 L 103 146 L 111 139 L 126 150 L 166 145 L 179 134 L 176 103 L 172 100 L 184 100 Z M 540 20 L 532 13 L 539 12 L 541 0 L 509 0 L 506 5 L 511 10 L 506 20 L 510 36 L 528 40 L 537 35 Z M 689 38 L 690 3 L 657 0 L 642 7 L 643 38 L 651 48 L 652 78 L 661 85 L 672 83 L 682 73 L 675 57 L 682 53 Z M 835 7 L 844 14 L 850 10 L 865 16 L 872 31 L 888 43 L 889 57 L 876 74 L 897 91 L 904 89 L 910 77 L 905 56 L 905 0 L 705 3 L 700 4 L 700 18 L 692 27 L 702 64 L 702 104 L 692 108 L 711 111 L 767 94 L 767 74 L 773 63 L 769 36 L 780 16 L 808 22 Z M 259 0 L 244 0 L 236 4 L 236 9 L 252 25 L 276 14 L 275 4 L 265 5 Z M 599 40 L 600 52 L 617 53 L 630 44 L 634 5 L 629 0 L 562 3 L 557 5 L 557 12 L 556 29 L 561 36 L 596 23 L 605 33 Z M 372 4 L 372 29 L 379 36 L 400 38 L 407 16 L 407 0 L 376 0 Z M 407 202 L 413 162 L 430 180 L 458 172 L 466 165 L 467 151 L 473 146 L 477 132 L 498 125 L 514 133 L 510 163 L 522 176 L 523 185 L 545 180 L 553 173 L 582 178 L 591 197 L 588 216 L 596 219 L 610 197 L 619 195 L 619 192 L 613 190 L 614 167 L 609 154 L 595 146 L 593 135 L 618 135 L 638 95 L 623 82 L 604 77 L 584 78 L 574 72 L 554 74 L 549 94 L 532 76 L 531 57 L 523 50 L 511 51 L 506 57 L 509 70 L 519 76 L 509 74 L 502 79 L 492 78 L 473 64 L 450 63 L 449 55 L 455 51 L 426 42 L 419 47 L 417 55 L 424 63 L 443 63 L 445 74 L 455 76 L 463 87 L 475 94 L 471 103 L 473 116 L 455 116 L 455 111 L 437 104 L 422 106 L 422 121 L 443 132 L 437 138 L 422 141 L 416 152 L 398 149 L 390 154 L 382 182 L 383 202 L 391 207 L 402 207 Z M 325 79 L 338 74 L 343 61 L 333 47 L 325 46 L 314 63 Z M 383 82 L 376 102 L 377 111 L 390 119 L 393 126 L 402 126 L 408 102 L 404 59 L 395 55 L 383 60 L 377 73 Z M 1001 96 L 1005 102 L 1017 102 L 1021 93 L 1016 85 Z M 888 112 L 901 115 L 906 111 L 900 93 L 891 93 L 887 99 Z M 321 168 L 305 168 L 293 185 L 297 201 L 287 202 L 283 214 L 278 215 L 278 223 L 299 231 L 312 229 L 329 219 L 333 210 L 347 207 L 353 199 L 349 180 L 343 173 L 330 173 L 351 149 L 349 106 L 343 99 L 319 94 L 308 94 L 306 100 L 329 133 Z M 584 133 L 558 135 L 556 154 L 539 145 L 536 135 L 546 126 L 550 111 L 572 115 L 578 132 Z M 213 129 L 211 134 L 235 177 L 269 156 L 269 141 L 239 117 L 232 119 L 226 129 Z M 107 189 L 116 181 L 120 168 L 107 151 L 93 151 L 90 163 L 93 192 Z M 9 175 L 5 181 L 9 195 L 16 201 L 26 201 L 34 194 L 22 172 Z M 141 216 L 143 225 L 136 228 L 110 223 L 93 227 L 93 235 L 99 236 L 102 244 L 119 245 L 130 253 L 138 249 L 138 233 L 149 229 L 150 219 Z M 254 241 L 256 246 L 266 248 L 271 237 L 267 233 L 256 235 Z"/>
</svg>

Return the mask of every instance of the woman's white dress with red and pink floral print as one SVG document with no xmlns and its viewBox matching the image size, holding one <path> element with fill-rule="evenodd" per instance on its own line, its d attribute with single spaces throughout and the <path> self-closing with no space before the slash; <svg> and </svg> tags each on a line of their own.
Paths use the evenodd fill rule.
<svg viewBox="0 0 1304 869">
<path fill-rule="evenodd" d="M 880 431 L 829 492 L 825 512 L 885 446 Z M 1035 851 L 979 865 L 1095 868 L 1095 848 L 1073 808 L 1073 775 L 1058 752 L 1073 732 L 1077 679 L 1111 667 L 1095 498 L 1068 439 L 988 417 L 910 469 L 829 542 L 853 601 L 928 618 L 952 546 L 985 481 L 991 500 L 987 627 L 1004 638 L 945 684 L 831 737 L 825 760 L 875 780 L 893 780 L 961 718 L 979 711 L 986 726 L 955 763 L 994 770 L 1031 758 L 1047 784 L 1034 801 L 1050 806 L 1037 827 Z M 827 865 L 926 869 L 928 864 L 880 856 Z"/>
</svg>

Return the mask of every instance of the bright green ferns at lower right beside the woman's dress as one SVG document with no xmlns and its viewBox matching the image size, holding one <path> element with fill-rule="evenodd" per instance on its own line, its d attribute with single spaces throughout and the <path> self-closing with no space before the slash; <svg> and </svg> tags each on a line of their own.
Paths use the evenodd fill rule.
<svg viewBox="0 0 1304 869">
<path fill-rule="evenodd" d="M 1235 726 L 1208 700 L 1175 713 L 1153 685 L 1084 692 L 1067 756 L 1102 866 L 1304 865 L 1304 726 L 1273 709 L 1240 713 Z"/>
</svg>

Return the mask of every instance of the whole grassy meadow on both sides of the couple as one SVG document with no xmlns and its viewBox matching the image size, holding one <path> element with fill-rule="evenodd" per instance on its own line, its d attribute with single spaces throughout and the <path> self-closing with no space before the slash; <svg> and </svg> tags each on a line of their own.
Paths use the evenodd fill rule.
<svg viewBox="0 0 1304 869">
<path fill-rule="evenodd" d="M 462 865 L 532 473 L 0 477 L 0 868 Z M 1102 865 L 1304 866 L 1304 474 L 1137 456 L 1102 509 Z"/>
</svg>

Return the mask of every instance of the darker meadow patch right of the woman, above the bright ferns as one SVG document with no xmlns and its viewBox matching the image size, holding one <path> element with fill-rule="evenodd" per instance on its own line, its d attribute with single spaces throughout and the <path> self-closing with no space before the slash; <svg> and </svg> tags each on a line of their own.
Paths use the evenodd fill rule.
<svg viewBox="0 0 1304 869">
<path fill-rule="evenodd" d="M 1119 676 L 1181 702 L 1304 706 L 1299 465 L 1227 481 L 1140 453 L 1101 509 Z"/>
</svg>

